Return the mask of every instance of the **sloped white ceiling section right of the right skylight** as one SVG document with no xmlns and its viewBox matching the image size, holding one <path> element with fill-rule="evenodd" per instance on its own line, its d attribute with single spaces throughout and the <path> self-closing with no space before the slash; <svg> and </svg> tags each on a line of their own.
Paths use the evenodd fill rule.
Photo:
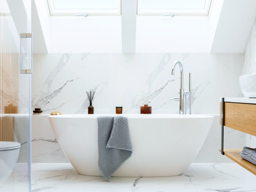
<svg viewBox="0 0 256 192">
<path fill-rule="evenodd" d="M 256 16 L 256 0 L 224 0 L 212 53 L 242 53 Z"/>
</svg>

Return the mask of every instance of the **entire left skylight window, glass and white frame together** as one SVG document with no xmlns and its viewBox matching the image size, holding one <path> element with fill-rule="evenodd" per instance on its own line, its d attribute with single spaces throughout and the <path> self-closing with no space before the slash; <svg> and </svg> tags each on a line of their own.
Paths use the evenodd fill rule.
<svg viewBox="0 0 256 192">
<path fill-rule="evenodd" d="M 121 0 L 48 0 L 51 15 L 121 15 Z"/>
</svg>

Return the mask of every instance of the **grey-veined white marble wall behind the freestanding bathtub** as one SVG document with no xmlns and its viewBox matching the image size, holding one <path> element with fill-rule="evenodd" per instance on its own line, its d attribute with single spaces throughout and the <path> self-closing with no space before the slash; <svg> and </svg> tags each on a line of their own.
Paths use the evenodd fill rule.
<svg viewBox="0 0 256 192">
<path fill-rule="evenodd" d="M 87 114 L 86 91 L 95 90 L 94 113 L 140 113 L 149 104 L 152 113 L 178 114 L 174 96 L 180 88 L 184 67 L 184 87 L 192 72 L 192 114 L 215 114 L 204 146 L 194 162 L 231 162 L 220 155 L 220 97 L 240 97 L 239 76 L 242 54 L 34 54 L 32 106 L 42 108 L 42 116 L 32 116 L 32 162 L 68 162 L 51 130 L 47 114 Z M 225 129 L 225 146 L 242 148 L 245 134 Z"/>
</svg>

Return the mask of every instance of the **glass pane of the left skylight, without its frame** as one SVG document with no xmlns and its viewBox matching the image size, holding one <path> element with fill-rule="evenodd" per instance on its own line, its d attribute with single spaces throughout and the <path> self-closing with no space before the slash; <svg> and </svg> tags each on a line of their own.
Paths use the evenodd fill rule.
<svg viewBox="0 0 256 192">
<path fill-rule="evenodd" d="M 54 9 L 118 9 L 118 0 L 53 0 Z"/>
</svg>

